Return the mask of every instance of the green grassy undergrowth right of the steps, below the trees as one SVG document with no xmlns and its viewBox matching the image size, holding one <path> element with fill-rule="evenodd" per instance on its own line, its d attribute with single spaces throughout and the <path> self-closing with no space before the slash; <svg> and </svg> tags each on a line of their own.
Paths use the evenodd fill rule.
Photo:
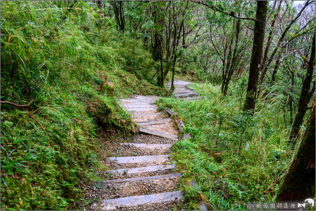
<svg viewBox="0 0 316 211">
<path fill-rule="evenodd" d="M 281 115 L 283 96 L 259 99 L 254 116 L 244 115 L 240 86 L 235 83 L 232 94 L 223 97 L 220 85 L 193 84 L 206 99 L 158 100 L 159 106 L 179 114 L 184 132 L 191 134 L 191 139 L 174 144 L 173 159 L 187 178 L 182 188 L 192 206 L 201 199 L 214 210 L 271 202 L 294 156 L 295 149 L 287 144 L 289 125 Z M 192 178 L 199 191 L 187 183 Z"/>
</svg>

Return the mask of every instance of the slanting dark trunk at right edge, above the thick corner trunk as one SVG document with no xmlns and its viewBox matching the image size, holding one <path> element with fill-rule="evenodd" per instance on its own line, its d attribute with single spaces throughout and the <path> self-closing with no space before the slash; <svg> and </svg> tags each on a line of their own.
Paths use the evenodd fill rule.
<svg viewBox="0 0 316 211">
<path fill-rule="evenodd" d="M 315 65 L 315 30 L 314 30 L 314 36 L 313 36 L 313 43 L 312 43 L 312 49 L 311 49 L 311 56 L 308 61 L 308 67 L 306 71 L 306 76 L 303 80 L 303 85 L 301 88 L 301 94 L 300 94 L 300 99 L 298 103 L 298 108 L 297 108 L 297 114 L 295 115 L 294 122 L 292 125 L 292 129 L 290 132 L 289 140 L 293 144 L 296 142 L 296 138 L 299 134 L 301 124 L 303 123 L 304 116 L 306 111 L 309 109 L 307 107 L 310 99 L 312 98 L 314 92 L 315 92 L 315 81 L 314 85 L 311 88 L 311 82 L 313 79 L 313 71 L 314 71 L 314 65 Z"/>
</svg>

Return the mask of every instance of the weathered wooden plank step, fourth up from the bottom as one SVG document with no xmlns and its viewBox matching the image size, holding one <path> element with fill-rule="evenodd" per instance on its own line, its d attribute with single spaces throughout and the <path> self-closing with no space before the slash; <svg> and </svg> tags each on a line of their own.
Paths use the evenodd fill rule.
<svg viewBox="0 0 316 211">
<path fill-rule="evenodd" d="M 168 154 L 162 155 L 143 155 L 143 156 L 129 156 L 129 157 L 109 157 L 108 160 L 114 161 L 118 164 L 125 163 L 152 163 L 152 162 L 165 162 L 169 158 Z"/>
</svg>

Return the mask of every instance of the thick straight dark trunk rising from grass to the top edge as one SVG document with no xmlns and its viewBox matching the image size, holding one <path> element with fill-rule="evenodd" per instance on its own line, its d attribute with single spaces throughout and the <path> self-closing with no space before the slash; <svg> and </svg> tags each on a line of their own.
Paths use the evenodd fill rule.
<svg viewBox="0 0 316 211">
<path fill-rule="evenodd" d="M 265 20 L 268 1 L 257 1 L 255 26 L 253 29 L 252 55 L 249 68 L 249 78 L 244 111 L 254 112 L 257 98 L 258 77 L 261 65 L 262 48 L 264 43 Z"/>
</svg>

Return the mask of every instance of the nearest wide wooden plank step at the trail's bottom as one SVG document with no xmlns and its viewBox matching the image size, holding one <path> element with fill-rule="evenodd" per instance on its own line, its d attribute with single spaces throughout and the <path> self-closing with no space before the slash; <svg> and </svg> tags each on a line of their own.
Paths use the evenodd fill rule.
<svg viewBox="0 0 316 211">
<path fill-rule="evenodd" d="M 178 190 L 165 193 L 155 193 L 149 195 L 107 199 L 103 201 L 101 207 L 103 210 L 117 210 L 117 207 L 129 207 L 158 202 L 170 202 L 175 200 L 181 200 L 182 198 L 182 191 Z"/>
</svg>

